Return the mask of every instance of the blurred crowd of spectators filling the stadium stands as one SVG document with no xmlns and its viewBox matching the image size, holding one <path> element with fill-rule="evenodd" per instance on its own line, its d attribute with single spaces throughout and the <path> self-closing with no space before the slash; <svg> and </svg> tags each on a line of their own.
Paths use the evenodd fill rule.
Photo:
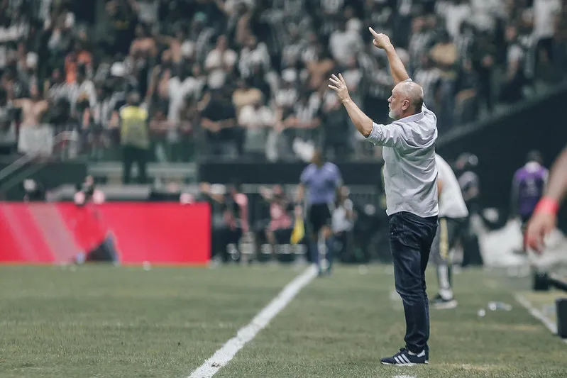
<svg viewBox="0 0 567 378">
<path fill-rule="evenodd" d="M 387 122 L 392 82 L 368 25 L 392 36 L 441 135 L 567 70 L 560 0 L 110 0 L 100 17 L 77 4 L 0 1 L 0 154 L 48 155 L 65 135 L 70 157 L 119 159 L 136 92 L 150 160 L 297 160 L 314 145 L 358 157 L 326 79 L 342 72 Z"/>
</svg>

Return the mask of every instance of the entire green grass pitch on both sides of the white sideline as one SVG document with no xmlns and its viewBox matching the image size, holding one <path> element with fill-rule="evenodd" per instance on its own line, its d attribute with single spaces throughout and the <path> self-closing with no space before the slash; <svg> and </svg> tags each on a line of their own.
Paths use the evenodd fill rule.
<svg viewBox="0 0 567 378">
<path fill-rule="evenodd" d="M 187 378 L 299 272 L 0 267 L 0 378 Z M 469 270 L 455 287 L 458 308 L 431 309 L 430 365 L 379 364 L 404 321 L 391 269 L 372 265 L 314 279 L 215 377 L 567 377 L 567 344 L 513 299 L 528 282 Z M 488 301 L 512 311 L 479 317 Z"/>
</svg>

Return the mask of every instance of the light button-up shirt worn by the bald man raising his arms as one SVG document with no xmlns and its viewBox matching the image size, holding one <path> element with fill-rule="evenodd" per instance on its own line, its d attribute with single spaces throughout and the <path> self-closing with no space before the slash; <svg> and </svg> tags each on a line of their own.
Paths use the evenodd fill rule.
<svg viewBox="0 0 567 378">
<path fill-rule="evenodd" d="M 390 123 L 373 123 L 366 138 L 383 146 L 386 213 L 423 218 L 439 215 L 435 140 L 437 117 L 424 105 L 420 113 Z"/>
</svg>

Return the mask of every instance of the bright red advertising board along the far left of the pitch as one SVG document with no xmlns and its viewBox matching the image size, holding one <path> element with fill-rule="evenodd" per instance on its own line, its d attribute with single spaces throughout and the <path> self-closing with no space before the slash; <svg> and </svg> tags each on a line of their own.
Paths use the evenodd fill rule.
<svg viewBox="0 0 567 378">
<path fill-rule="evenodd" d="M 205 265 L 209 205 L 0 203 L 0 263 L 73 262 L 101 250 L 121 264 Z"/>
</svg>

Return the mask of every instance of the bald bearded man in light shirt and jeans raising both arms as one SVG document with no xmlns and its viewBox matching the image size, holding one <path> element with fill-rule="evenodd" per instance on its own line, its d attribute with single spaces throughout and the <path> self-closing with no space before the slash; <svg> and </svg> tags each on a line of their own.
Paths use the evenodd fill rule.
<svg viewBox="0 0 567 378">
<path fill-rule="evenodd" d="M 394 121 L 379 125 L 351 99 L 341 74 L 332 75 L 336 91 L 351 121 L 366 140 L 382 146 L 384 182 L 390 218 L 390 249 L 396 291 L 402 297 L 406 320 L 405 346 L 383 365 L 429 363 L 429 300 L 425 271 L 435 238 L 439 205 L 435 141 L 437 116 L 424 106 L 423 88 L 412 82 L 390 38 L 369 28 L 374 45 L 385 50 L 395 82 L 388 99 Z M 376 172 L 379 174 L 378 172 Z"/>
</svg>

